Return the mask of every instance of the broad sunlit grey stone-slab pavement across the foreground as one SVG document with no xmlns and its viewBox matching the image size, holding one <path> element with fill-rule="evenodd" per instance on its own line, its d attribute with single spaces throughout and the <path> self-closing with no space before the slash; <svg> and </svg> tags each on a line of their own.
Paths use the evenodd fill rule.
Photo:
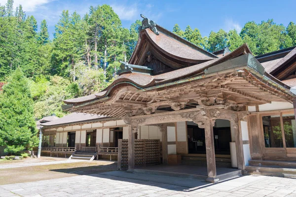
<svg viewBox="0 0 296 197">
<path fill-rule="evenodd" d="M 251 175 L 217 184 L 200 181 L 198 187 L 159 183 L 163 178 L 174 179 L 160 176 L 155 182 L 106 174 L 81 175 L 2 185 L 0 197 L 296 197 L 296 179 L 290 178 Z"/>
</svg>

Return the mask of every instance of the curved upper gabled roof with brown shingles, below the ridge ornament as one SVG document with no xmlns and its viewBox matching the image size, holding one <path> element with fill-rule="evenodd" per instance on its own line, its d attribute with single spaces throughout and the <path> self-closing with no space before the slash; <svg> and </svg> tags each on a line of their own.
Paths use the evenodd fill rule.
<svg viewBox="0 0 296 197">
<path fill-rule="evenodd" d="M 158 35 L 150 29 L 144 29 L 140 32 L 137 46 L 129 64 L 143 65 L 148 51 L 151 51 L 160 61 L 174 69 L 218 58 L 161 26 L 156 25 L 156 28 Z"/>
</svg>

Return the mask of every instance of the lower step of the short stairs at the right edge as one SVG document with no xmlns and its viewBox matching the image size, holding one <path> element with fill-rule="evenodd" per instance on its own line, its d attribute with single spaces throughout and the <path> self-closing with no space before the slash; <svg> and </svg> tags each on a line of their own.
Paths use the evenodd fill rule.
<svg viewBox="0 0 296 197">
<path fill-rule="evenodd" d="M 246 166 L 246 170 L 250 174 L 268 175 L 268 176 L 279 176 L 279 177 L 292 177 L 296 178 L 295 168 L 286 168 L 281 166 Z"/>
</svg>

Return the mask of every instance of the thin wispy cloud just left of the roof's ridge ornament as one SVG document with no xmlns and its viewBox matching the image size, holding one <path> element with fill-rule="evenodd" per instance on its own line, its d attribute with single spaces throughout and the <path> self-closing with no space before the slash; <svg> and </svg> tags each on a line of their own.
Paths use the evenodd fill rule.
<svg viewBox="0 0 296 197">
<path fill-rule="evenodd" d="M 138 7 L 136 4 L 134 5 L 111 5 L 114 12 L 119 16 L 121 20 L 131 21 L 134 20 L 135 17 L 138 17 Z"/>
</svg>

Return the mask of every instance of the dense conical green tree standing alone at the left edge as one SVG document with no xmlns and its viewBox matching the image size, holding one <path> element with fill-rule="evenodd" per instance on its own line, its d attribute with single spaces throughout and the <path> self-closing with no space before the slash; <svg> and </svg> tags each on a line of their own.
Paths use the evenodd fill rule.
<svg viewBox="0 0 296 197">
<path fill-rule="evenodd" d="M 0 145 L 15 154 L 37 141 L 34 103 L 28 80 L 18 67 L 0 94 Z"/>
</svg>

